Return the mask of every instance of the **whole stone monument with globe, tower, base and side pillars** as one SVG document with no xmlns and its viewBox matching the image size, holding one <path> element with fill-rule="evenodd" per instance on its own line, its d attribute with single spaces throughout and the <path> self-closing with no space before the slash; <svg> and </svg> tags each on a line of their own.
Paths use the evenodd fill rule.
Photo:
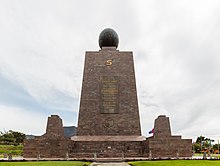
<svg viewBox="0 0 220 166">
<path fill-rule="evenodd" d="M 172 136 L 169 118 L 155 120 L 154 136 L 141 136 L 133 54 L 117 50 L 113 29 L 99 36 L 99 51 L 85 55 L 77 133 L 64 137 L 62 120 L 48 118 L 46 134 L 25 140 L 25 158 L 191 157 L 191 139 Z"/>
</svg>

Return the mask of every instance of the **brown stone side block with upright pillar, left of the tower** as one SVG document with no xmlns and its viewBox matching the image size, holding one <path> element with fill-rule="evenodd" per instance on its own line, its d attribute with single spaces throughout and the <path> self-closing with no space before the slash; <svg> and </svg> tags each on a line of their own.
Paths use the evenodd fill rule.
<svg viewBox="0 0 220 166">
<path fill-rule="evenodd" d="M 64 137 L 62 119 L 51 115 L 44 135 L 24 141 L 24 158 L 65 158 L 69 141 Z"/>
</svg>

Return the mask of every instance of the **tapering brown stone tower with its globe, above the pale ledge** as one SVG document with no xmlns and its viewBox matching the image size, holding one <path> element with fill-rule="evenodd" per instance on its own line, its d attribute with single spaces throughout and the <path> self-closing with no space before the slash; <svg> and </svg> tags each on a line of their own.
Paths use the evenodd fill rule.
<svg viewBox="0 0 220 166">
<path fill-rule="evenodd" d="M 141 136 L 133 54 L 109 28 L 99 46 L 85 55 L 77 136 Z"/>
</svg>

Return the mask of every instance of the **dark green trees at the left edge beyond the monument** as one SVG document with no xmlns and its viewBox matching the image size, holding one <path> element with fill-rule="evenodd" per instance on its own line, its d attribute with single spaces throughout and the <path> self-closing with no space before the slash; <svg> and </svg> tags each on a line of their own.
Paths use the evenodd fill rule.
<svg viewBox="0 0 220 166">
<path fill-rule="evenodd" d="M 24 142 L 26 135 L 18 131 L 0 132 L 0 144 L 3 145 L 19 145 Z"/>
</svg>

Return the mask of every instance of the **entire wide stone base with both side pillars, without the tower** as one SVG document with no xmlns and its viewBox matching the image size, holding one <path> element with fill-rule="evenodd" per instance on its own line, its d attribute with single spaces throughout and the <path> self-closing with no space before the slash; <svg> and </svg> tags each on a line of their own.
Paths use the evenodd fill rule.
<svg viewBox="0 0 220 166">
<path fill-rule="evenodd" d="M 25 140 L 24 158 L 62 159 L 159 159 L 190 158 L 192 140 L 172 136 L 169 118 L 159 116 L 154 124 L 154 136 L 73 136 L 64 137 L 62 120 L 48 118 L 47 132 L 35 139 Z M 57 130 L 54 130 L 57 128 Z"/>
</svg>

